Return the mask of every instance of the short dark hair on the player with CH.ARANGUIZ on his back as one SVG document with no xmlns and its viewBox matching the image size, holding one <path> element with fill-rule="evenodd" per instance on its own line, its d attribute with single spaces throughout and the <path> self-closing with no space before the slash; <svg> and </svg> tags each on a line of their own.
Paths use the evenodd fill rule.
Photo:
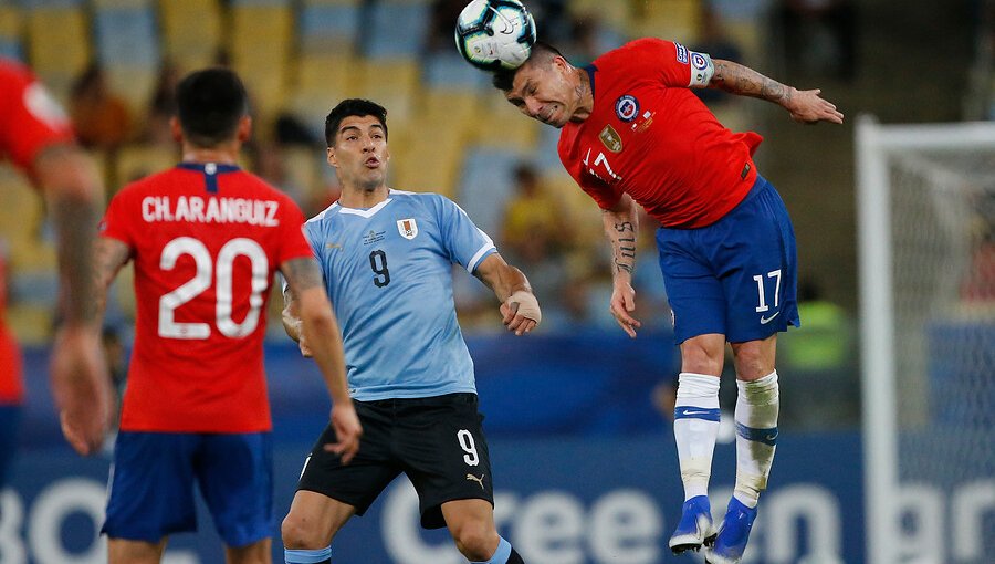
<svg viewBox="0 0 995 564">
<path fill-rule="evenodd" d="M 239 119 L 249 113 L 249 95 L 234 72 L 206 69 L 177 84 L 176 105 L 187 142 L 214 147 L 234 137 Z"/>
</svg>

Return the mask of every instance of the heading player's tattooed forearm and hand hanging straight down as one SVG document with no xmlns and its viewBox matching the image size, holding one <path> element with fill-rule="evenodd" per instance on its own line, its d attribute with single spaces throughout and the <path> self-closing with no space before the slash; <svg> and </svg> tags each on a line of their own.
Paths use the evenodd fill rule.
<svg viewBox="0 0 995 564">
<path fill-rule="evenodd" d="M 630 315 L 636 309 L 636 291 L 632 290 L 632 271 L 636 270 L 636 233 L 639 230 L 639 216 L 636 202 L 629 196 L 622 196 L 618 205 L 609 210 L 601 210 L 605 234 L 611 243 L 611 291 L 610 310 L 615 321 L 630 337 L 636 337 L 636 330 L 642 324 Z"/>
</svg>

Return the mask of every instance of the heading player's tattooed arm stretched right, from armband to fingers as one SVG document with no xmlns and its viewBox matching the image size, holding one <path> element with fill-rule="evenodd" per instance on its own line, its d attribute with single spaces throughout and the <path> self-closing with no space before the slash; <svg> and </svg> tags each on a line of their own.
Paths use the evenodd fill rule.
<svg viewBox="0 0 995 564">
<path fill-rule="evenodd" d="M 792 119 L 799 123 L 841 124 L 844 121 L 842 113 L 835 104 L 823 100 L 819 96 L 823 91 L 818 88 L 799 91 L 732 61 L 715 59 L 713 63 L 715 73 L 709 82 L 710 88 L 773 102 L 787 109 Z"/>
</svg>

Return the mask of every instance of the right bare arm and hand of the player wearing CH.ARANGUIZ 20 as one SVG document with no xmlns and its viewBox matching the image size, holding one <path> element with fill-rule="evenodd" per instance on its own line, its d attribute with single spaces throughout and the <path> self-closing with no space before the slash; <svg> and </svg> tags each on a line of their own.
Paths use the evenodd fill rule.
<svg viewBox="0 0 995 564">
<path fill-rule="evenodd" d="M 311 353 L 332 396 L 332 426 L 337 442 L 325 445 L 325 449 L 342 456 L 343 462 L 348 463 L 359 450 L 363 427 L 349 397 L 342 335 L 325 295 L 322 271 L 314 259 L 289 260 L 280 265 L 280 271 L 294 297 L 292 303 L 296 303 L 294 313 L 301 320 L 298 336 L 306 337 L 311 344 Z"/>
</svg>

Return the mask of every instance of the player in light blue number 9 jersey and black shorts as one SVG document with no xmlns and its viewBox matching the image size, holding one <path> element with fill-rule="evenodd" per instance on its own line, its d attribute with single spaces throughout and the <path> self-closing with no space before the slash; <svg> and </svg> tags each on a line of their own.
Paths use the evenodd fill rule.
<svg viewBox="0 0 995 564">
<path fill-rule="evenodd" d="M 331 562 L 332 539 L 363 515 L 399 473 L 418 491 L 421 525 L 448 526 L 472 563 L 523 564 L 494 525 L 488 445 L 473 361 L 457 323 L 452 265 L 494 291 L 516 335 L 542 320 L 522 272 L 451 200 L 387 186 L 387 111 L 346 100 L 325 121 L 328 164 L 342 198 L 304 231 L 343 332 L 350 394 L 364 428 L 348 466 L 318 438 L 283 521 L 287 563 Z M 284 291 L 287 334 L 301 340 L 295 296 Z"/>
</svg>

